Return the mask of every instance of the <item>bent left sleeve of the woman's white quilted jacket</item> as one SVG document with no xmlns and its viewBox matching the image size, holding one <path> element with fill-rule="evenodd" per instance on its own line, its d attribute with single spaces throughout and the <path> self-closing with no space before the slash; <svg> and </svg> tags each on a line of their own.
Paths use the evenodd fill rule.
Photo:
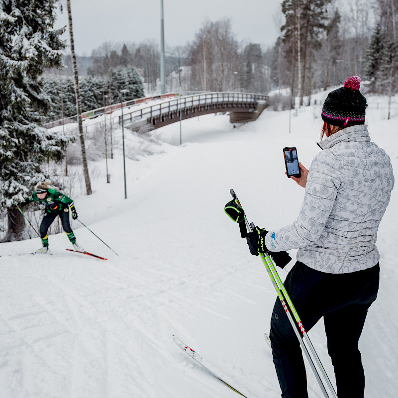
<svg viewBox="0 0 398 398">
<path fill-rule="evenodd" d="M 329 218 L 343 181 L 342 164 L 338 157 L 327 150 L 315 156 L 309 168 L 298 219 L 290 225 L 269 231 L 266 236 L 267 248 L 279 252 L 316 242 Z"/>
</svg>

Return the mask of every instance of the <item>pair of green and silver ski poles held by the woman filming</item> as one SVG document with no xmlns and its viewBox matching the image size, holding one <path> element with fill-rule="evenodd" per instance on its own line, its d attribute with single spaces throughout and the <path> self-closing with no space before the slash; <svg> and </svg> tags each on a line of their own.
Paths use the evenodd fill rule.
<svg viewBox="0 0 398 398">
<path fill-rule="evenodd" d="M 241 206 L 241 204 L 239 202 L 239 199 L 236 196 L 236 194 L 233 191 L 233 189 L 230 190 L 230 194 L 232 195 L 232 198 L 236 201 L 236 203 L 242 208 L 242 206 Z M 242 210 L 243 210 L 243 208 L 242 208 Z M 246 214 L 244 213 L 244 210 L 243 210 L 243 220 L 244 220 L 244 222 L 246 224 L 246 228 L 245 229 L 246 229 L 246 234 L 247 234 L 247 230 L 249 230 L 250 232 L 253 230 L 254 224 L 248 222 L 248 220 L 246 218 Z M 239 226 L 240 226 L 242 238 L 245 237 L 244 236 L 244 232 L 242 232 L 242 224 L 243 224 L 242 221 L 243 220 L 241 219 L 239 221 L 239 224 L 240 224 Z M 234 221 L 237 222 L 238 220 L 236 219 Z M 264 263 L 264 266 L 265 266 L 265 268 L 267 270 L 267 273 L 268 273 L 268 275 L 269 275 L 269 277 L 271 279 L 271 282 L 274 285 L 274 288 L 275 288 L 275 290 L 277 292 L 278 298 L 281 300 L 282 306 L 285 309 L 285 312 L 286 312 L 286 314 L 288 316 L 288 319 L 289 319 L 289 321 L 290 321 L 290 323 L 291 323 L 291 325 L 293 327 L 293 330 L 296 333 L 298 341 L 301 343 L 301 347 L 302 347 L 302 349 L 304 351 L 304 354 L 305 354 L 305 356 L 306 356 L 306 358 L 308 360 L 308 363 L 309 363 L 309 365 L 310 365 L 310 367 L 311 367 L 311 369 L 312 369 L 312 371 L 313 371 L 313 373 L 315 375 L 315 378 L 316 378 L 316 380 L 317 380 L 317 382 L 319 384 L 319 387 L 322 390 L 322 393 L 323 393 L 324 397 L 325 398 L 330 398 L 328 393 L 327 393 L 327 391 L 326 391 L 326 389 L 325 389 L 325 386 L 324 386 L 324 384 L 323 384 L 323 382 L 322 382 L 322 380 L 321 380 L 321 378 L 319 376 L 319 373 L 318 373 L 318 371 L 317 371 L 317 369 L 315 367 L 315 364 L 314 364 L 314 362 L 313 362 L 313 360 L 312 360 L 312 358 L 311 358 L 311 356 L 309 354 L 309 351 L 308 351 L 308 348 L 307 348 L 306 345 L 308 345 L 309 350 L 311 351 L 311 353 L 312 353 L 312 355 L 313 355 L 313 357 L 315 359 L 315 362 L 316 362 L 316 364 L 317 364 L 317 366 L 318 366 L 318 368 L 319 368 L 319 370 L 320 370 L 320 372 L 322 374 L 322 377 L 325 380 L 326 385 L 328 386 L 333 398 L 337 398 L 337 394 L 334 391 L 333 385 L 331 384 L 331 382 L 330 382 L 330 380 L 329 380 L 329 378 L 328 378 L 328 376 L 326 374 L 326 371 L 323 368 L 322 363 L 320 362 L 320 359 L 319 359 L 319 357 L 318 357 L 318 355 L 317 355 L 317 353 L 315 351 L 315 348 L 313 347 L 311 341 L 309 340 L 309 337 L 308 337 L 308 335 L 307 335 L 307 333 L 306 333 L 306 331 L 305 331 L 305 329 L 304 329 L 304 327 L 302 325 L 301 319 L 298 316 L 298 313 L 297 313 L 297 311 L 296 311 L 296 309 L 295 309 L 295 307 L 294 307 L 294 305 L 292 303 L 292 300 L 290 299 L 288 293 L 286 292 L 286 289 L 285 289 L 285 287 L 284 287 L 284 285 L 283 285 L 283 283 L 282 283 L 282 281 L 281 281 L 281 279 L 279 277 L 279 274 L 278 274 L 277 270 L 275 269 L 274 263 L 272 262 L 272 260 L 271 260 L 271 258 L 270 258 L 268 253 L 260 253 L 260 257 L 261 257 L 261 260 Z M 293 316 L 296 319 L 297 324 L 296 324 L 296 322 L 294 321 L 294 319 L 292 317 L 292 313 L 293 313 Z M 301 334 L 300 334 L 300 332 L 301 332 Z"/>
</svg>

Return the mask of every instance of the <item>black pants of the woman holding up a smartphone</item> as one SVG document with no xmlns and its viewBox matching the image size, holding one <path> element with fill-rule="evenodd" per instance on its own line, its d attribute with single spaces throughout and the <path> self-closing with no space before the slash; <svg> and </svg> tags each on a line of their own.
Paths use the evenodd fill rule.
<svg viewBox="0 0 398 398">
<path fill-rule="evenodd" d="M 306 331 L 323 316 L 327 349 L 339 398 L 363 398 L 365 375 L 358 341 L 379 289 L 379 263 L 349 274 L 327 274 L 300 263 L 284 286 Z M 277 298 L 271 318 L 271 347 L 283 398 L 307 398 L 298 338 Z"/>
</svg>

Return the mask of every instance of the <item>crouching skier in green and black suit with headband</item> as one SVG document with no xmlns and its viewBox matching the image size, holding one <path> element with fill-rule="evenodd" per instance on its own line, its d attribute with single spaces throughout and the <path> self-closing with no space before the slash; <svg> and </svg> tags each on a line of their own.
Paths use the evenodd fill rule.
<svg viewBox="0 0 398 398">
<path fill-rule="evenodd" d="M 44 217 L 40 224 L 40 237 L 43 247 L 37 250 L 36 253 L 50 253 L 50 250 L 48 249 L 47 230 L 57 215 L 61 218 L 62 227 L 71 241 L 73 248 L 77 251 L 84 251 L 83 248 L 76 243 L 76 237 L 69 224 L 69 207 L 72 212 L 72 218 L 74 220 L 78 218 L 73 200 L 60 192 L 49 188 L 46 183 L 41 183 L 36 186 L 34 193 L 22 202 L 18 203 L 17 207 L 23 207 L 34 201 L 39 201 L 44 206 Z"/>
</svg>

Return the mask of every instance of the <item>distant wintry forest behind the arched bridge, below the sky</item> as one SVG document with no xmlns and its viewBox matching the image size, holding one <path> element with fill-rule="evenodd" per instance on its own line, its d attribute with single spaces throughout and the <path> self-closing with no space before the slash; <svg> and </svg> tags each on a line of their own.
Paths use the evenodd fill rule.
<svg viewBox="0 0 398 398">
<path fill-rule="evenodd" d="M 271 47 L 264 46 L 261 38 L 238 42 L 228 18 L 207 19 L 186 45 L 167 47 L 166 91 L 267 94 L 292 88 L 299 105 L 308 105 L 311 94 L 358 75 L 364 81 L 363 91 L 391 97 L 398 90 L 397 15 L 398 0 L 284 0 L 274 15 L 280 35 Z M 70 55 L 64 56 L 64 64 L 63 70 L 45 74 L 46 86 L 52 86 L 53 92 L 58 82 L 72 74 Z M 109 82 L 116 70 L 133 70 L 142 79 L 145 95 L 159 94 L 156 40 L 105 42 L 90 57 L 79 57 L 78 64 L 82 85 L 95 87 L 93 95 L 98 98 L 86 100 L 84 111 L 103 106 L 105 96 L 117 100 Z M 93 81 L 101 81 L 101 87 L 93 86 Z M 131 91 L 129 99 L 141 96 L 141 90 Z M 73 87 L 71 93 L 72 102 L 66 108 L 73 112 Z M 276 109 L 289 107 L 289 99 L 274 100 Z M 52 111 L 51 116 L 60 115 L 59 100 Z"/>
</svg>

